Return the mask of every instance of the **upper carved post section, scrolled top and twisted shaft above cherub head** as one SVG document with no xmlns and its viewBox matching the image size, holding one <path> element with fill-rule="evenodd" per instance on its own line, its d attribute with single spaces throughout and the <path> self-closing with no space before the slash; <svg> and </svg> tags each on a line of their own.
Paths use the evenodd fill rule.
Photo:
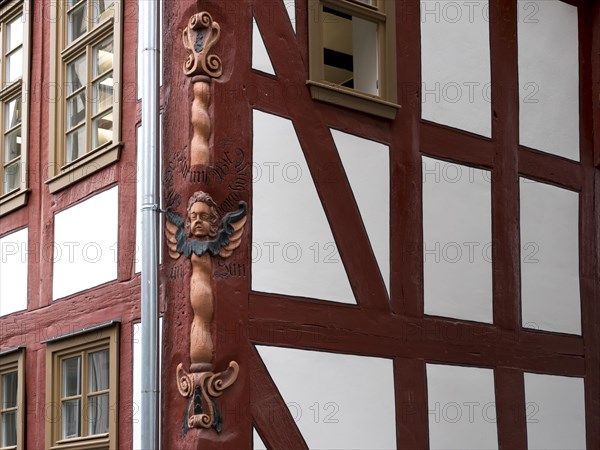
<svg viewBox="0 0 600 450">
<path fill-rule="evenodd" d="M 209 52 L 219 40 L 220 34 L 221 27 L 207 12 L 194 14 L 183 30 L 183 46 L 189 52 L 183 64 L 183 73 L 192 79 L 194 91 L 191 111 L 194 135 L 190 145 L 192 166 L 211 163 L 209 141 L 212 130 L 208 107 L 212 79 L 219 78 L 223 69 L 221 59 Z"/>
</svg>

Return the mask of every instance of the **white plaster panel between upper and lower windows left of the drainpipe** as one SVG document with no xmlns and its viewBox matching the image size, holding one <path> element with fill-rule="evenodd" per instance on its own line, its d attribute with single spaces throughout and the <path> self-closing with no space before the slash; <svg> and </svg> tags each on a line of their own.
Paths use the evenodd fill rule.
<svg viewBox="0 0 600 450">
<path fill-rule="evenodd" d="M 54 300 L 117 278 L 119 188 L 54 216 Z"/>
</svg>

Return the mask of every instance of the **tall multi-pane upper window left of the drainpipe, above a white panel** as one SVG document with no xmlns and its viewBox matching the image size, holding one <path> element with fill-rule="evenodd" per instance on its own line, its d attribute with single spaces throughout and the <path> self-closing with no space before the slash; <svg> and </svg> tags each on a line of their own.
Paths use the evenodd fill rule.
<svg viewBox="0 0 600 450">
<path fill-rule="evenodd" d="M 52 3 L 50 192 L 119 159 L 121 2 Z M 52 156 L 53 155 L 53 156 Z"/>
</svg>

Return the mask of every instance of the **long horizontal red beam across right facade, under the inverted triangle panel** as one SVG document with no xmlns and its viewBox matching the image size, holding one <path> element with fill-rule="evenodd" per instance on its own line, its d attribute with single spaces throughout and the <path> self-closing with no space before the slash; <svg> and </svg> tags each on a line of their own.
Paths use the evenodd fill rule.
<svg viewBox="0 0 600 450">
<path fill-rule="evenodd" d="M 347 306 L 253 294 L 253 342 L 446 364 L 505 365 L 582 376 L 581 338 L 502 330 L 451 319 L 403 318 Z"/>
</svg>

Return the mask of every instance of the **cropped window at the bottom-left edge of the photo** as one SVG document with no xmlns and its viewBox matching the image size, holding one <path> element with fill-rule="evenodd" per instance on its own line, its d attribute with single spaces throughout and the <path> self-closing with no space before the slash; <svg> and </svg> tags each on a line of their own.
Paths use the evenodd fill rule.
<svg viewBox="0 0 600 450">
<path fill-rule="evenodd" d="M 25 365 L 22 348 L 0 352 L 0 448 L 24 448 Z"/>
</svg>

